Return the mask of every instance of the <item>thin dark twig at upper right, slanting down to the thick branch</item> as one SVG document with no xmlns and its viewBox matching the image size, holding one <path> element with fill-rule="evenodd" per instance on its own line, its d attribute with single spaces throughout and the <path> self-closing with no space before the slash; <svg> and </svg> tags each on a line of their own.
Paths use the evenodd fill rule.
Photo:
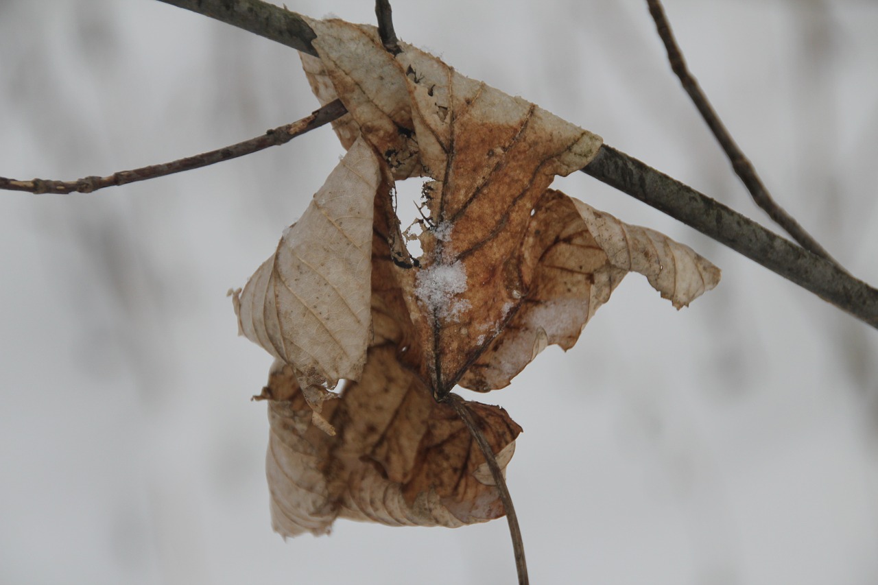
<svg viewBox="0 0 878 585">
<path fill-rule="evenodd" d="M 689 72 L 686 61 L 683 59 L 682 51 L 680 51 L 677 41 L 674 40 L 671 25 L 667 21 L 661 1 L 646 0 L 646 3 L 649 4 L 650 14 L 655 21 L 659 37 L 661 37 L 662 42 L 665 43 L 667 59 L 671 63 L 671 69 L 673 69 L 673 72 L 680 78 L 680 83 L 682 83 L 683 89 L 686 90 L 695 107 L 698 108 L 698 112 L 701 112 L 702 118 L 707 122 L 710 131 L 713 132 L 716 137 L 716 141 L 720 143 L 725 155 L 729 157 L 732 168 L 745 184 L 747 191 L 750 191 L 753 201 L 756 202 L 756 205 L 765 210 L 766 213 L 768 213 L 768 216 L 792 236 L 796 242 L 799 242 L 803 248 L 809 249 L 811 252 L 817 254 L 817 256 L 823 256 L 830 262 L 837 264 L 838 268 L 844 270 L 844 268 L 842 268 L 842 266 L 829 255 L 829 252 L 827 252 L 817 240 L 799 225 L 798 221 L 796 221 L 792 215 L 784 211 L 784 209 L 772 199 L 765 185 L 762 184 L 759 175 L 756 174 L 756 170 L 753 168 L 752 163 L 744 155 L 744 152 L 738 148 L 738 144 L 732 139 L 731 134 L 729 134 L 729 131 L 723 125 L 723 121 L 719 119 L 713 106 L 710 105 L 708 97 L 702 91 L 698 81 L 695 80 L 694 76 Z"/>
</svg>

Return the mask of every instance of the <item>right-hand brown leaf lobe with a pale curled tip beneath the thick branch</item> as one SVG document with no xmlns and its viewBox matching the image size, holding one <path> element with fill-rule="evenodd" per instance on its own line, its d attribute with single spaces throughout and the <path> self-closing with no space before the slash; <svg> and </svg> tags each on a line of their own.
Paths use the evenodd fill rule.
<svg viewBox="0 0 878 585">
<path fill-rule="evenodd" d="M 629 271 L 649 279 L 674 307 L 709 291 L 720 272 L 692 249 L 651 229 L 630 226 L 561 191 L 546 191 L 522 244 L 522 298 L 460 385 L 502 388 L 557 343 L 572 348 L 594 312 Z"/>
</svg>

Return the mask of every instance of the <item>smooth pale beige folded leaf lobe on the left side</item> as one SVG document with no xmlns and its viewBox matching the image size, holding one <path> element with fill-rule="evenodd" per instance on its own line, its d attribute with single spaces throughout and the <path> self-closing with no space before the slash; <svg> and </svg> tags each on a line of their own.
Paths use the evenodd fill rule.
<svg viewBox="0 0 878 585">
<path fill-rule="evenodd" d="M 356 141 L 235 302 L 241 332 L 291 364 L 301 386 L 333 387 L 363 370 L 374 199 L 389 189 L 381 164 Z"/>
</svg>

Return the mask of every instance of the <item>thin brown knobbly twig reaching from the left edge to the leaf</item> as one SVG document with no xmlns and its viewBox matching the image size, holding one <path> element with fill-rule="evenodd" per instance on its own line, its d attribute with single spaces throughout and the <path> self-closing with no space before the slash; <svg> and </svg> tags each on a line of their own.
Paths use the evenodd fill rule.
<svg viewBox="0 0 878 585">
<path fill-rule="evenodd" d="M 188 156 L 173 162 L 153 164 L 134 170 L 120 170 L 108 177 L 84 177 L 76 181 L 55 181 L 52 179 L 31 179 L 30 181 L 18 181 L 6 177 L 0 177 L 0 189 L 9 191 L 28 191 L 31 193 L 90 193 L 104 187 L 146 181 L 155 177 L 164 177 L 184 170 L 198 169 L 216 162 L 223 162 L 238 156 L 249 155 L 265 148 L 279 146 L 291 141 L 296 136 L 305 134 L 340 118 L 347 113 L 340 100 L 335 100 L 314 111 L 299 121 L 279 126 L 269 130 L 265 134 L 251 138 L 248 141 L 239 142 L 226 148 L 218 148 L 200 155 Z"/>
</svg>

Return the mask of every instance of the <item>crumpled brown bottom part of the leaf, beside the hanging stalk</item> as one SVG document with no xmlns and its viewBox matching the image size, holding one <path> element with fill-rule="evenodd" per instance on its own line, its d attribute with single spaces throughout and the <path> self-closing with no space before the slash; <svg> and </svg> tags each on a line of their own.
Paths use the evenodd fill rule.
<svg viewBox="0 0 878 585">
<path fill-rule="evenodd" d="M 284 537 L 328 533 L 336 517 L 454 528 L 505 513 L 469 430 L 399 365 L 396 350 L 372 347 L 363 379 L 327 404 L 335 436 L 313 425 L 291 367 L 276 362 L 262 397 L 270 400 L 272 525 Z M 521 428 L 501 408 L 469 406 L 505 467 Z"/>
</svg>

